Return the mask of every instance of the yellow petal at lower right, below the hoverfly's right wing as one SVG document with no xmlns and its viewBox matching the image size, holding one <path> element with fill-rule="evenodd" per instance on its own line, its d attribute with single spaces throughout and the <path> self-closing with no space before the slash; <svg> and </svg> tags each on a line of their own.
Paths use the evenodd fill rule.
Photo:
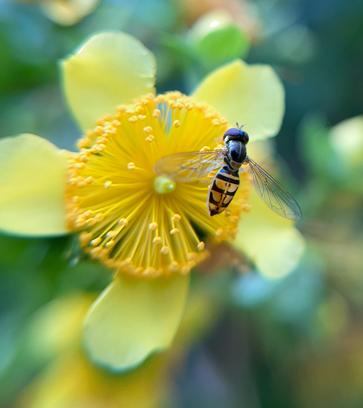
<svg viewBox="0 0 363 408">
<path fill-rule="evenodd" d="M 252 211 L 239 223 L 235 246 L 269 278 L 282 278 L 299 264 L 305 239 L 294 222 L 280 217 L 251 189 Z"/>
</svg>

